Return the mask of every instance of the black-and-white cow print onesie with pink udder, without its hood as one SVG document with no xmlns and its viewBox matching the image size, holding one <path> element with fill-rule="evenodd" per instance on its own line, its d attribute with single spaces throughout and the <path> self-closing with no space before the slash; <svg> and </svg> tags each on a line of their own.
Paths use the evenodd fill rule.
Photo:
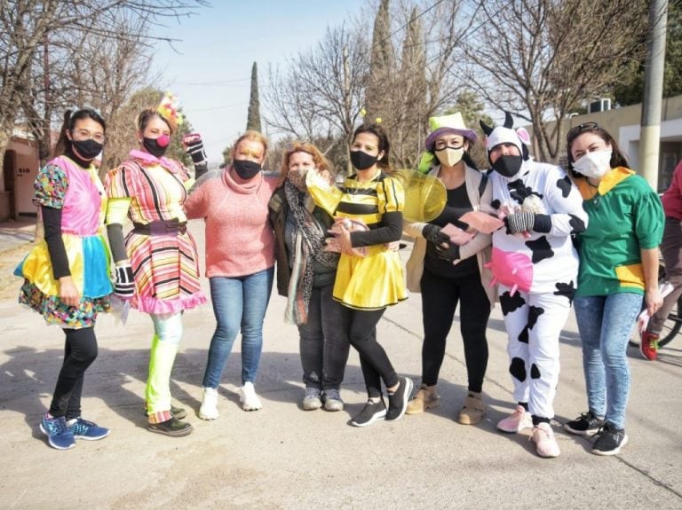
<svg viewBox="0 0 682 510">
<path fill-rule="evenodd" d="M 583 231 L 583 199 L 559 167 L 523 161 L 513 177 L 490 172 L 493 207 L 535 214 L 533 230 L 493 234 L 489 264 L 499 284 L 508 335 L 514 399 L 537 417 L 554 416 L 559 381 L 559 333 L 566 324 L 578 273 L 571 234 Z"/>
</svg>

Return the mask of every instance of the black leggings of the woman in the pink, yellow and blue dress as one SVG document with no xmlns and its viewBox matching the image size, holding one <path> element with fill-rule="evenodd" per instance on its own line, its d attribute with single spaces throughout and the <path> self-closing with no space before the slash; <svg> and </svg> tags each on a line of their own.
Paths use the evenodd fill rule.
<svg viewBox="0 0 682 510">
<path fill-rule="evenodd" d="M 61 365 L 57 386 L 54 388 L 50 414 L 67 420 L 81 415 L 83 376 L 97 357 L 97 338 L 91 327 L 65 329 L 64 364 Z"/>
</svg>

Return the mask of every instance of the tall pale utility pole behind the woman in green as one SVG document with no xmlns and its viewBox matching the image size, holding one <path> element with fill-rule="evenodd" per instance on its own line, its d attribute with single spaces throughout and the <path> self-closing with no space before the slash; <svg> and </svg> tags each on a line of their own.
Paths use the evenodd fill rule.
<svg viewBox="0 0 682 510">
<path fill-rule="evenodd" d="M 642 122 L 639 135 L 639 169 L 654 190 L 658 190 L 658 160 L 661 147 L 661 101 L 665 68 L 665 31 L 668 0 L 649 3 L 649 33 L 646 37 L 646 63 Z"/>
</svg>

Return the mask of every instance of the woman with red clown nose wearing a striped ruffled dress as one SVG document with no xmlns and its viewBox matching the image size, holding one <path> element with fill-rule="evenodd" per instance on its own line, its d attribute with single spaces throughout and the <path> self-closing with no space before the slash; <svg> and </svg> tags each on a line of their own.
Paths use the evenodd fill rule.
<svg viewBox="0 0 682 510">
<path fill-rule="evenodd" d="M 107 175 L 107 234 L 115 262 L 115 294 L 149 314 L 155 334 L 145 389 L 147 430 L 183 436 L 187 412 L 171 405 L 171 371 L 182 338 L 182 313 L 206 302 L 199 284 L 196 244 L 186 229 L 182 204 L 194 183 L 179 161 L 164 157 L 182 119 L 167 95 L 137 118 L 139 149 Z M 191 143 L 188 143 L 191 140 Z M 183 140 L 194 169 L 206 169 L 201 137 Z M 123 238 L 123 222 L 132 230 Z"/>
</svg>

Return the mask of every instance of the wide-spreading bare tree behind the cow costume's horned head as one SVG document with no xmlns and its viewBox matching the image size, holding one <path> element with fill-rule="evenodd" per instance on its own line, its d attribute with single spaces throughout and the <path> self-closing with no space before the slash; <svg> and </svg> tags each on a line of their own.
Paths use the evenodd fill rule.
<svg viewBox="0 0 682 510">
<path fill-rule="evenodd" d="M 584 99 L 608 90 L 643 50 L 642 0 L 489 0 L 467 39 L 474 89 L 489 104 L 533 125 L 535 153 L 557 161 L 560 121 Z"/>
</svg>

